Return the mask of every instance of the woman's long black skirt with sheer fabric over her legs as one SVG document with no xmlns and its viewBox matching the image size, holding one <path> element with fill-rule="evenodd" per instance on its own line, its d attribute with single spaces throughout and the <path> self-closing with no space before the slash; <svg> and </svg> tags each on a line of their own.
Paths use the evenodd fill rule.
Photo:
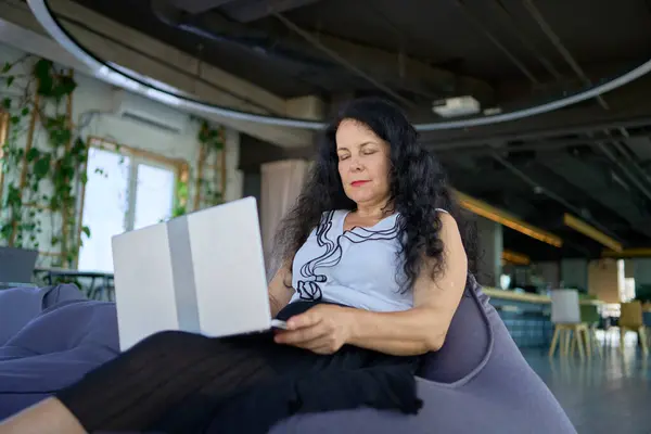
<svg viewBox="0 0 651 434">
<path fill-rule="evenodd" d="M 314 306 L 295 303 L 288 319 Z M 418 357 L 344 346 L 334 355 L 271 332 L 209 339 L 162 332 L 56 394 L 93 431 L 266 433 L 296 413 L 358 407 L 414 413 Z"/>
</svg>

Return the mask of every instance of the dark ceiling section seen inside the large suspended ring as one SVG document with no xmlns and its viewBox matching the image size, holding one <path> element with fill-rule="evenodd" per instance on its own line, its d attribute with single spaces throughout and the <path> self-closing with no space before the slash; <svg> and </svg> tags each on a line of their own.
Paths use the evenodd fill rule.
<svg viewBox="0 0 651 434">
<path fill-rule="evenodd" d="M 497 92 L 493 102 L 505 102 L 501 95 L 511 100 L 513 89 L 526 98 L 583 85 L 527 10 L 531 0 L 77 2 L 284 97 L 382 93 L 302 38 L 292 24 L 316 38 L 382 50 L 386 59 L 363 58 L 355 66 L 405 99 L 426 104 L 456 90 L 436 73 L 481 80 Z M 651 52 L 651 12 L 643 0 L 533 4 L 590 80 L 639 64 Z M 401 59 L 429 67 L 431 77 L 421 79 L 424 73 L 414 73 Z"/>
</svg>

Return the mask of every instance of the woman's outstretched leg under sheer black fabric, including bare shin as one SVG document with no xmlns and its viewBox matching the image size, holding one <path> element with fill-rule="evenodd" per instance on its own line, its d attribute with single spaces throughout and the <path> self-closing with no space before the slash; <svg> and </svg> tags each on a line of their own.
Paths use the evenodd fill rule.
<svg viewBox="0 0 651 434">
<path fill-rule="evenodd" d="M 166 426 L 169 432 L 193 432 L 209 421 L 222 399 L 275 378 L 265 358 L 275 347 L 263 335 L 237 345 L 192 333 L 157 333 L 56 398 L 0 424 L 0 434 L 143 431 L 163 416 L 173 425 Z M 181 405 L 187 403 L 193 405 Z"/>
</svg>

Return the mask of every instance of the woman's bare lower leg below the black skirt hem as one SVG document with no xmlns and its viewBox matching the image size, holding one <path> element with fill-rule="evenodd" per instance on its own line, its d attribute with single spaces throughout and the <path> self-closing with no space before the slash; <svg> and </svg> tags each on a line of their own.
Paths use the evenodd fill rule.
<svg viewBox="0 0 651 434">
<path fill-rule="evenodd" d="M 77 418 L 56 398 L 44 399 L 0 423 L 0 434 L 86 434 Z"/>
</svg>

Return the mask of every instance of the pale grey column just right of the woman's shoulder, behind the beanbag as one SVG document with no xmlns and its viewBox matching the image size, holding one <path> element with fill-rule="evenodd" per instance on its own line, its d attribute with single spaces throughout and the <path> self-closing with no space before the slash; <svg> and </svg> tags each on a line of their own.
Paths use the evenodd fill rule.
<svg viewBox="0 0 651 434">
<path fill-rule="evenodd" d="M 503 250 L 502 226 L 477 217 L 478 264 L 477 281 L 485 286 L 499 288 L 501 254 Z"/>
</svg>

